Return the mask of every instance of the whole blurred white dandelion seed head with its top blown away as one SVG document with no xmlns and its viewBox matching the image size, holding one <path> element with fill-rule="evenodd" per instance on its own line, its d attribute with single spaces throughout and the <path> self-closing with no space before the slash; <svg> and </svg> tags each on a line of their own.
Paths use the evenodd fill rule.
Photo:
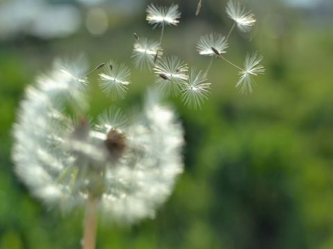
<svg viewBox="0 0 333 249">
<path fill-rule="evenodd" d="M 80 84 L 56 66 L 28 86 L 13 128 L 17 175 L 49 205 L 71 209 L 93 194 L 105 219 L 133 223 L 153 217 L 183 169 L 180 123 L 150 93 L 143 110 L 127 120 L 110 107 L 89 124 L 83 110 L 76 112 L 85 94 Z M 105 145 L 110 132 L 124 146 L 116 156 Z"/>
</svg>

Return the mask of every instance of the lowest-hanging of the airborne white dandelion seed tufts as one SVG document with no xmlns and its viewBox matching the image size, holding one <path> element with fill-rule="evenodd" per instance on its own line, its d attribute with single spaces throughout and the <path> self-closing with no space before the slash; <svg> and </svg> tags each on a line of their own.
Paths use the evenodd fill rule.
<svg viewBox="0 0 333 249">
<path fill-rule="evenodd" d="M 207 75 L 203 71 L 191 68 L 189 80 L 182 89 L 182 101 L 194 109 L 200 109 L 210 94 L 211 83 L 207 82 Z"/>
</svg>

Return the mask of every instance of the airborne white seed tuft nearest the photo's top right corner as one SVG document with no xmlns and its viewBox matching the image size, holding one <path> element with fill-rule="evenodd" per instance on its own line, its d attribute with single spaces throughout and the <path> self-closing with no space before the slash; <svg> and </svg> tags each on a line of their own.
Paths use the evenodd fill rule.
<svg viewBox="0 0 333 249">
<path fill-rule="evenodd" d="M 248 32 L 255 25 L 253 12 L 246 11 L 245 7 L 242 8 L 239 2 L 229 0 L 225 12 L 227 12 L 228 17 L 236 22 L 237 27 L 242 32 Z"/>
</svg>

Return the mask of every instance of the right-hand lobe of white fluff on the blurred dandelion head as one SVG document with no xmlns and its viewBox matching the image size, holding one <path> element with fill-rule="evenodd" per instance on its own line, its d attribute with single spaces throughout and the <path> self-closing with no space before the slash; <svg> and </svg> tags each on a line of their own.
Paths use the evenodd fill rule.
<svg viewBox="0 0 333 249">
<path fill-rule="evenodd" d="M 133 222 L 155 216 L 182 172 L 182 127 L 173 111 L 148 95 L 142 115 L 125 129 L 126 153 L 105 174 L 107 191 L 101 204 L 117 221 Z"/>
</svg>

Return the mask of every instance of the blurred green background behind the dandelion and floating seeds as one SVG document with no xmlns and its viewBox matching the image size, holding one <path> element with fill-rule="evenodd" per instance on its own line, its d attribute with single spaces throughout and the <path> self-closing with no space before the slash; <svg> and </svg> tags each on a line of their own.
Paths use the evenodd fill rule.
<svg viewBox="0 0 333 249">
<path fill-rule="evenodd" d="M 38 19 L 44 31 L 31 28 L 35 16 L 26 13 L 33 10 L 20 2 L 47 3 L 52 11 L 70 6 L 62 21 L 71 29 L 51 32 L 61 25 L 57 18 L 49 26 Z M 164 53 L 205 68 L 209 58 L 196 53 L 196 42 L 212 31 L 228 33 L 226 2 L 203 0 L 196 17 L 196 1 L 175 1 L 182 19 L 166 29 Z M 258 50 L 266 74 L 256 78 L 252 95 L 240 95 L 238 72 L 216 60 L 203 109 L 170 100 L 186 131 L 185 173 L 154 220 L 119 228 L 101 219 L 97 248 L 333 248 L 333 3 L 241 2 L 257 24 L 250 34 L 232 33 L 228 59 L 242 64 L 248 51 Z M 55 57 L 83 52 L 92 67 L 108 59 L 133 67 L 133 33 L 160 35 L 145 21 L 147 3 L 0 1 L 1 249 L 80 248 L 82 210 L 64 216 L 30 196 L 13 172 L 10 130 L 25 87 Z M 137 104 L 153 75 L 133 69 L 132 80 L 128 98 L 115 103 L 124 109 Z M 114 104 L 98 89 L 90 102 L 92 115 Z"/>
</svg>

